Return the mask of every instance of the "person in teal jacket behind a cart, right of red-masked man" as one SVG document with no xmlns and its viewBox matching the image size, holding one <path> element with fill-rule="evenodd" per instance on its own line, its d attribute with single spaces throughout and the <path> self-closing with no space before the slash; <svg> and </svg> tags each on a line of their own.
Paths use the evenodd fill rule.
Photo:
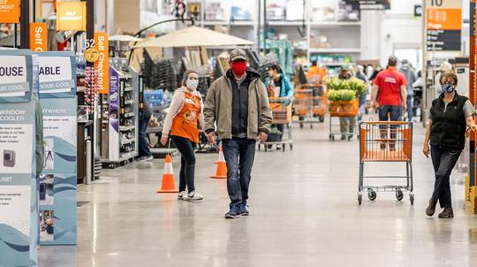
<svg viewBox="0 0 477 267">
<path fill-rule="evenodd" d="M 267 90 L 269 91 L 269 95 L 272 97 L 285 97 L 288 98 L 286 102 L 284 102 L 284 106 L 288 106 L 292 103 L 293 98 L 293 87 L 290 79 L 282 72 L 282 69 L 278 65 L 271 65 L 269 68 L 269 79 L 265 80 L 265 84 L 267 85 Z M 280 132 L 284 133 L 284 125 L 272 125 L 272 127 L 276 127 L 276 129 Z M 269 149 L 271 149 L 271 145 L 269 145 Z M 282 149 L 281 145 L 276 145 L 276 149 Z"/>
</svg>

